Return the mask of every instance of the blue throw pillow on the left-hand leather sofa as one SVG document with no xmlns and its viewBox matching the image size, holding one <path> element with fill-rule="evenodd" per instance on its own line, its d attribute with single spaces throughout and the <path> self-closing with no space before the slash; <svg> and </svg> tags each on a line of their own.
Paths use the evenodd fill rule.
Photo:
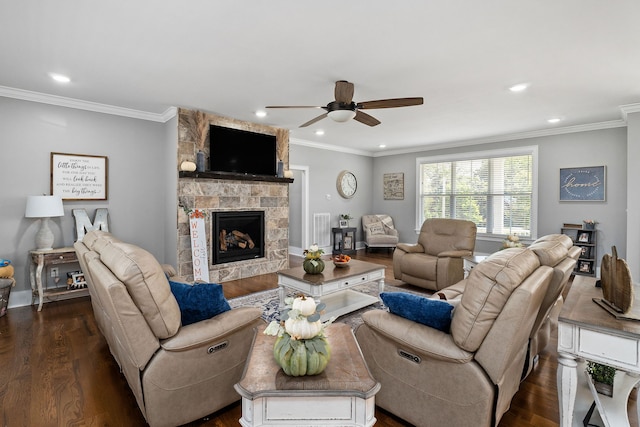
<svg viewBox="0 0 640 427">
<path fill-rule="evenodd" d="M 182 326 L 210 319 L 231 310 L 218 283 L 186 283 L 169 280 L 171 292 L 178 301 Z"/>
</svg>

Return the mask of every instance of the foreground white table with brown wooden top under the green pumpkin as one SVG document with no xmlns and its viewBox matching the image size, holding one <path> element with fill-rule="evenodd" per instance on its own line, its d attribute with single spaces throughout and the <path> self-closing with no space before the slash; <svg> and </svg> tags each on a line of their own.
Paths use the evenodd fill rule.
<svg viewBox="0 0 640 427">
<path fill-rule="evenodd" d="M 327 330 L 331 359 L 319 375 L 290 377 L 276 364 L 276 338 L 259 328 L 244 374 L 235 389 L 242 396 L 243 427 L 357 426 L 375 424 L 371 376 L 351 327 L 334 323 Z"/>
</svg>

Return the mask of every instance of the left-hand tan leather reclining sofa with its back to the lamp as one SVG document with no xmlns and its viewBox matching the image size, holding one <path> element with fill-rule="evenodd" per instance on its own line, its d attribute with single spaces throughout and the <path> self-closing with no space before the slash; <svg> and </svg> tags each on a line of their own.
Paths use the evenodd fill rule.
<svg viewBox="0 0 640 427">
<path fill-rule="evenodd" d="M 149 252 L 104 231 L 74 245 L 100 331 L 152 427 L 186 424 L 240 396 L 258 308 L 187 326 L 165 270 Z"/>
</svg>

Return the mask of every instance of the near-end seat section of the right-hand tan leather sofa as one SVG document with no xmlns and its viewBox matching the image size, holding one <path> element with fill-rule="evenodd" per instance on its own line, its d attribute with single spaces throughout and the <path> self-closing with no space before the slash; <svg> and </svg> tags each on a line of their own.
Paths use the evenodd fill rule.
<svg viewBox="0 0 640 427">
<path fill-rule="evenodd" d="M 491 255 L 466 279 L 450 333 L 383 310 L 364 313 L 356 338 L 382 386 L 376 405 L 415 425 L 498 425 L 552 274 L 528 249 Z"/>
</svg>

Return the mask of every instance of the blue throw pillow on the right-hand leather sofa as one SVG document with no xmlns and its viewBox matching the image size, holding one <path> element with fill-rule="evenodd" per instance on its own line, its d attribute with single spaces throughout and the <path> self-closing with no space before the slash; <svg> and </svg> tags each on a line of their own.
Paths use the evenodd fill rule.
<svg viewBox="0 0 640 427">
<path fill-rule="evenodd" d="M 406 292 L 383 292 L 382 302 L 389 312 L 423 325 L 449 332 L 453 306 L 446 301 L 430 299 Z"/>
</svg>

